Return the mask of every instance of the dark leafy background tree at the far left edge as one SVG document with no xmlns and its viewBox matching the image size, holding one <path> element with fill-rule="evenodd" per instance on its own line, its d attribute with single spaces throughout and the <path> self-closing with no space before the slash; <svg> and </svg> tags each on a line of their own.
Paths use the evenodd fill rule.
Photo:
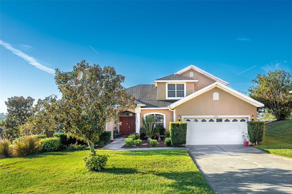
<svg viewBox="0 0 292 194">
<path fill-rule="evenodd" d="M 7 106 L 7 116 L 2 126 L 5 128 L 5 135 L 10 135 L 15 138 L 20 135 L 19 126 L 27 122 L 27 118 L 32 115 L 32 106 L 34 99 L 30 96 L 14 96 L 5 101 Z"/>
</svg>

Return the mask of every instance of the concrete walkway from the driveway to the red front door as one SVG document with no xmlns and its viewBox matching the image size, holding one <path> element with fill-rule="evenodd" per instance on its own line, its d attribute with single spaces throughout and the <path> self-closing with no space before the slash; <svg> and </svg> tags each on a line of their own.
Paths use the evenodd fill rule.
<svg viewBox="0 0 292 194">
<path fill-rule="evenodd" d="M 149 147 L 149 148 L 131 148 L 131 149 L 125 149 L 121 148 L 125 144 L 125 138 L 121 137 L 121 139 L 116 139 L 112 143 L 106 145 L 102 149 L 108 149 L 108 150 L 120 150 L 120 151 L 132 151 L 132 150 L 155 150 L 155 149 L 186 149 L 184 147 Z"/>
</svg>

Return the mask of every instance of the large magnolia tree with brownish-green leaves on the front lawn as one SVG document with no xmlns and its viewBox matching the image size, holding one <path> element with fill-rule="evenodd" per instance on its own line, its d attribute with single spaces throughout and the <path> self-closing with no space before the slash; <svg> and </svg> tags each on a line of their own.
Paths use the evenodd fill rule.
<svg viewBox="0 0 292 194">
<path fill-rule="evenodd" d="M 95 155 L 94 144 L 106 123 L 117 121 L 119 112 L 136 106 L 133 96 L 121 85 L 124 79 L 113 67 L 91 66 L 85 60 L 73 66 L 73 71 L 56 69 L 55 81 L 62 98 L 38 100 L 35 119 L 87 142 Z"/>
</svg>

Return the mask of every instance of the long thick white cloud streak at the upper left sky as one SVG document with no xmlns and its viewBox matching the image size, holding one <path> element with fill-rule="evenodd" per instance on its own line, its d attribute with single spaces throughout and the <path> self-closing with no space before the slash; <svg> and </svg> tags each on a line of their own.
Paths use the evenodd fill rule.
<svg viewBox="0 0 292 194">
<path fill-rule="evenodd" d="M 22 59 L 27 61 L 29 64 L 35 66 L 36 68 L 43 70 L 43 71 L 46 71 L 46 72 L 51 73 L 51 74 L 55 74 L 55 70 L 48 68 L 46 66 L 43 66 L 42 64 L 37 62 L 37 60 L 34 57 L 31 57 L 31 56 L 21 52 L 20 50 L 13 48 L 10 44 L 0 40 L 0 45 L 4 46 L 8 50 L 11 50 L 18 57 L 21 57 Z"/>
</svg>

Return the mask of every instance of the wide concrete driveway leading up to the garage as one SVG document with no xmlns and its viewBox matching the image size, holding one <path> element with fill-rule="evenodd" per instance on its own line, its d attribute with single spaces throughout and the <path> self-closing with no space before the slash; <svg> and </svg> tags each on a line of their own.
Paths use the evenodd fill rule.
<svg viewBox="0 0 292 194">
<path fill-rule="evenodd" d="M 185 146 L 215 193 L 292 193 L 292 159 L 251 146 Z"/>
</svg>

